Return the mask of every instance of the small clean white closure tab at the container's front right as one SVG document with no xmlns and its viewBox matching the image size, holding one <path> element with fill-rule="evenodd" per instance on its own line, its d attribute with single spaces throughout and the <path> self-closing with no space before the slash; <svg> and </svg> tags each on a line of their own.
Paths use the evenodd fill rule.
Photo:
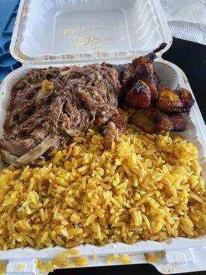
<svg viewBox="0 0 206 275">
<path fill-rule="evenodd" d="M 190 250 L 169 250 L 165 252 L 167 263 L 189 263 L 194 262 Z"/>
</svg>

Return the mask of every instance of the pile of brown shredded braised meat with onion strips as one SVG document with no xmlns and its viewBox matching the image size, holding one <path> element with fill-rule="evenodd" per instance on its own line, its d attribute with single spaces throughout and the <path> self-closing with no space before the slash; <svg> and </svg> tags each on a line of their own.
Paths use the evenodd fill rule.
<svg viewBox="0 0 206 275">
<path fill-rule="evenodd" d="M 106 131 L 110 140 L 115 139 L 127 124 L 125 115 L 124 126 L 119 123 L 122 113 L 117 108 L 118 76 L 116 69 L 106 63 L 28 72 L 12 89 L 3 125 L 0 146 L 3 155 L 8 154 L 7 162 L 11 156 L 16 157 L 15 162 L 20 159 L 22 165 L 30 163 L 30 159 L 34 162 L 48 148 L 67 144 L 90 126 Z M 43 143 L 47 139 L 49 142 Z M 32 153 L 36 157 L 31 157 Z M 14 163 L 14 157 L 12 160 Z"/>
</svg>

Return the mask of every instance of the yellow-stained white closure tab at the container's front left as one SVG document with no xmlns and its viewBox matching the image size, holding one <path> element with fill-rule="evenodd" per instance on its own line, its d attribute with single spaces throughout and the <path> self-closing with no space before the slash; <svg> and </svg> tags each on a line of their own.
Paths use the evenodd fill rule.
<svg viewBox="0 0 206 275">
<path fill-rule="evenodd" d="M 32 260 L 10 260 L 6 267 L 6 274 L 12 275 L 35 275 L 35 259 Z"/>
</svg>

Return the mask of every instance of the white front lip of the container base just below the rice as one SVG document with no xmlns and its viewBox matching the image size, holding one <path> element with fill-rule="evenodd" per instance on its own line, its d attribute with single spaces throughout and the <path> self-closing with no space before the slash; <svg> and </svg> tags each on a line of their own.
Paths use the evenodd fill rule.
<svg viewBox="0 0 206 275">
<path fill-rule="evenodd" d="M 190 250 L 205 248 L 203 241 L 205 241 L 206 235 L 198 236 L 196 239 L 187 239 L 184 237 L 171 237 L 166 241 L 150 241 L 150 240 L 139 240 L 137 243 L 128 245 L 126 243 L 106 243 L 105 245 L 78 245 L 74 249 L 80 250 L 80 256 L 107 256 L 111 254 L 145 254 L 150 252 L 161 252 L 161 251 L 174 251 L 174 250 Z M 144 248 L 142 249 L 142 245 Z M 18 260 L 24 259 L 49 259 L 55 257 L 57 254 L 66 252 L 68 248 L 62 248 L 58 245 L 52 248 L 42 248 L 36 250 L 34 248 L 13 248 L 10 250 L 0 250 L 0 261 Z M 117 251 L 118 250 L 118 251 Z M 19 252 L 19 253 L 18 253 Z"/>
</svg>

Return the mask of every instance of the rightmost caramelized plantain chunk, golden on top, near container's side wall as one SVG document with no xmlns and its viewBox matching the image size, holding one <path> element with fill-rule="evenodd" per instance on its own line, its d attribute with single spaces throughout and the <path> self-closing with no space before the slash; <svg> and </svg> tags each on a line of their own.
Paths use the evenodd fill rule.
<svg viewBox="0 0 206 275">
<path fill-rule="evenodd" d="M 194 104 L 194 99 L 187 89 L 171 90 L 159 87 L 159 98 L 156 102 L 157 109 L 165 113 L 183 113 L 189 111 Z"/>
</svg>

